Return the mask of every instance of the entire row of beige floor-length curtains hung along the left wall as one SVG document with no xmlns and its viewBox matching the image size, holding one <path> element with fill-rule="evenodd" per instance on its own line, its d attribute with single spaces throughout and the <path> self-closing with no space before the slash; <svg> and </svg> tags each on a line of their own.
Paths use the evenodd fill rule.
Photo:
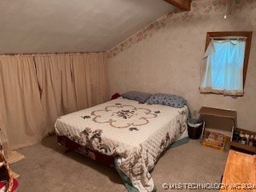
<svg viewBox="0 0 256 192">
<path fill-rule="evenodd" d="M 4 150 L 34 145 L 62 114 L 109 99 L 106 54 L 0 56 Z"/>
</svg>

